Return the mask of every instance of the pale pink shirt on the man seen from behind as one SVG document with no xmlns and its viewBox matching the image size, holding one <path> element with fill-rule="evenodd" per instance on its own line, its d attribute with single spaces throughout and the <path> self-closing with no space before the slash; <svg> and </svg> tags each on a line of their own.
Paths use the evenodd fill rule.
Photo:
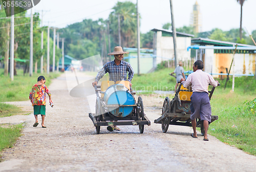
<svg viewBox="0 0 256 172">
<path fill-rule="evenodd" d="M 196 70 L 187 77 L 187 80 L 183 82 L 183 86 L 187 88 L 192 85 L 193 92 L 208 92 L 208 85 L 217 87 L 218 83 L 212 78 L 209 73 L 202 71 L 201 69 Z"/>
</svg>

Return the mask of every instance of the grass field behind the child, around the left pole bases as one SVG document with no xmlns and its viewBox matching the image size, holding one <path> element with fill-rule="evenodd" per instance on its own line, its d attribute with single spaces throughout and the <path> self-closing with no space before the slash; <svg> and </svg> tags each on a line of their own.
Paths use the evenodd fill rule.
<svg viewBox="0 0 256 172">
<path fill-rule="evenodd" d="M 23 70 L 17 70 L 17 76 L 14 76 L 14 81 L 11 81 L 9 76 L 4 76 L 4 69 L 0 69 L 0 101 L 13 102 L 13 101 L 27 101 L 29 100 L 29 93 L 34 84 L 37 83 L 37 78 L 40 73 L 33 73 L 30 77 L 28 73 L 23 76 Z M 46 85 L 51 84 L 51 79 L 58 77 L 59 73 L 43 73 L 46 78 Z"/>
</svg>

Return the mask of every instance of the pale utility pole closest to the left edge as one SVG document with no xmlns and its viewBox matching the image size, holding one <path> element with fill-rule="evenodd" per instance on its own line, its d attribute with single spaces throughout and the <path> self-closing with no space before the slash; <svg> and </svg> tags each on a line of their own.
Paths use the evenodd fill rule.
<svg viewBox="0 0 256 172">
<path fill-rule="evenodd" d="M 11 8 L 11 54 L 10 54 L 10 78 L 14 76 L 14 7 Z"/>
</svg>

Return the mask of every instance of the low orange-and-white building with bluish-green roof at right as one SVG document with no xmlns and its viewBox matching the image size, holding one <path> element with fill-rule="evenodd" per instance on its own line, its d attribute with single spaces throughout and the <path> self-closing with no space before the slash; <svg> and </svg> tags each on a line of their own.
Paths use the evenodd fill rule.
<svg viewBox="0 0 256 172">
<path fill-rule="evenodd" d="M 202 57 L 204 62 L 203 70 L 205 72 L 227 73 L 233 58 L 233 50 L 229 49 L 230 47 L 234 47 L 236 44 L 238 44 L 238 48 L 241 47 L 242 49 L 245 47 L 246 50 L 237 50 L 236 55 L 234 55 L 234 73 L 238 75 L 249 75 L 255 73 L 256 46 L 206 38 L 191 39 L 191 43 L 205 46 L 201 47 L 201 50 L 198 51 L 198 57 Z M 214 49 L 212 46 L 218 48 L 219 50 Z M 223 46 L 223 48 L 221 48 L 221 46 Z M 232 72 L 233 68 L 231 67 L 230 73 Z"/>
</svg>

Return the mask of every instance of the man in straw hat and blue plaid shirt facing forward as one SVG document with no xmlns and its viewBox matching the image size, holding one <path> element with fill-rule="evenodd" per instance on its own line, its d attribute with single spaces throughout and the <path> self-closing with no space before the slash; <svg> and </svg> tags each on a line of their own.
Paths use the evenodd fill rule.
<svg viewBox="0 0 256 172">
<path fill-rule="evenodd" d="M 92 83 L 93 86 L 97 85 L 99 80 L 105 75 L 105 73 L 109 73 L 110 81 L 126 81 L 127 72 L 128 79 L 127 81 L 130 82 L 130 87 L 132 86 L 132 79 L 133 79 L 133 68 L 131 64 L 128 62 L 122 61 L 123 54 L 129 54 L 129 52 L 124 52 L 121 46 L 116 46 L 114 48 L 114 52 L 109 53 L 108 55 L 114 55 L 115 59 L 111 62 L 106 63 L 98 72 L 95 81 Z M 108 128 L 109 130 L 109 128 Z M 114 130 L 120 130 L 116 126 L 114 126 Z"/>
</svg>

